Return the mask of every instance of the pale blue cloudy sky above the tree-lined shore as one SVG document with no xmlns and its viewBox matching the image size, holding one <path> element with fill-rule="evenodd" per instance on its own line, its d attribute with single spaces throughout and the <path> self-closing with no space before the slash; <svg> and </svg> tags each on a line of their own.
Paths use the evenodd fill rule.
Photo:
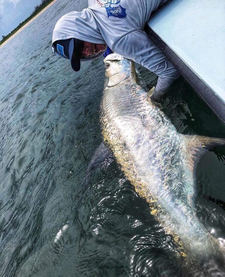
<svg viewBox="0 0 225 277">
<path fill-rule="evenodd" d="M 33 12 L 41 0 L 0 0 L 0 40 Z"/>
</svg>

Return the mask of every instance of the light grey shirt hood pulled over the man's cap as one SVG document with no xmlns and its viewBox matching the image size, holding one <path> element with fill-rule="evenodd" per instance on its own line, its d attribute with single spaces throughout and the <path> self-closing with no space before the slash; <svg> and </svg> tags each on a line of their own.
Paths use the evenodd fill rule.
<svg viewBox="0 0 225 277">
<path fill-rule="evenodd" d="M 83 11 L 72 11 L 62 16 L 56 23 L 52 34 L 52 46 L 57 40 L 77 38 L 91 43 L 105 43 L 96 20 L 89 9 Z M 54 52 L 54 48 L 52 47 Z M 104 51 L 94 58 L 103 55 Z M 84 58 L 81 60 L 92 60 L 93 58 Z"/>
</svg>

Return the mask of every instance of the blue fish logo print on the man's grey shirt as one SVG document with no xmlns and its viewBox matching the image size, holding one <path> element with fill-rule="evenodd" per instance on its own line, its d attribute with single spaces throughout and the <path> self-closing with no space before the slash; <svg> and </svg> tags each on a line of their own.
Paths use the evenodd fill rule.
<svg viewBox="0 0 225 277">
<path fill-rule="evenodd" d="M 108 18 L 110 16 L 118 18 L 127 18 L 126 9 L 120 6 L 121 0 L 104 0 Z"/>
</svg>

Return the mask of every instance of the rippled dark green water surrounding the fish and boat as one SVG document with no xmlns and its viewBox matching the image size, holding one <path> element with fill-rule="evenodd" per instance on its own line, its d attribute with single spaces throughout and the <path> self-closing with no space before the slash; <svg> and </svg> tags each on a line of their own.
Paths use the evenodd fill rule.
<svg viewBox="0 0 225 277">
<path fill-rule="evenodd" d="M 0 48 L 0 276 L 181 276 L 168 234 L 115 161 L 82 186 L 102 141 L 103 59 L 74 73 L 50 45 L 57 19 L 86 5 L 58 0 Z M 179 132 L 225 137 L 183 80 L 162 104 Z M 224 169 L 225 149 L 209 151 L 195 198 L 201 222 L 222 238 Z"/>
</svg>

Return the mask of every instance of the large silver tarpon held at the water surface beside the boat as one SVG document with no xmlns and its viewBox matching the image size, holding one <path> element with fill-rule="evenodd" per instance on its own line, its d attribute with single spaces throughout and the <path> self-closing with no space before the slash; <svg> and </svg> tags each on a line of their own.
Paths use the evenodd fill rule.
<svg viewBox="0 0 225 277">
<path fill-rule="evenodd" d="M 179 134 L 137 85 L 134 64 L 117 54 L 105 60 L 100 122 L 104 142 L 127 178 L 149 202 L 151 214 L 173 234 L 191 264 L 222 256 L 217 240 L 192 208 L 195 167 L 202 154 L 224 139 Z M 224 276 L 224 275 L 219 275 Z"/>
</svg>

